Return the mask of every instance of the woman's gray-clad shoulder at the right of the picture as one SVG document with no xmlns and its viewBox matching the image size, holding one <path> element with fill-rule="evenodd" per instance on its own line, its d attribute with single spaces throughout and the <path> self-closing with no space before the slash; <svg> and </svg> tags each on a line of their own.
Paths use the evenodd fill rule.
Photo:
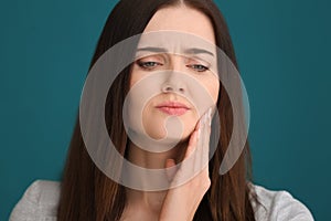
<svg viewBox="0 0 331 221">
<path fill-rule="evenodd" d="M 252 183 L 250 183 L 252 185 Z M 257 201 L 253 201 L 256 220 L 312 221 L 309 209 L 285 190 L 269 190 L 252 185 Z"/>
</svg>

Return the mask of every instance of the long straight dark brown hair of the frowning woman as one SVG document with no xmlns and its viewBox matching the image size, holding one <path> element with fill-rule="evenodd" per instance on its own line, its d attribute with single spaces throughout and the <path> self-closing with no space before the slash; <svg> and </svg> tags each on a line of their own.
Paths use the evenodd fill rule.
<svg viewBox="0 0 331 221">
<path fill-rule="evenodd" d="M 211 19 L 216 45 L 237 66 L 225 20 L 212 0 L 120 0 L 106 21 L 90 67 L 116 43 L 142 33 L 149 20 L 160 8 L 180 3 L 197 9 Z M 128 66 L 117 76 L 109 90 L 105 107 L 105 120 L 109 136 L 122 155 L 125 155 L 128 146 L 121 113 L 125 97 L 129 91 L 129 71 Z M 232 104 L 222 84 L 217 109 L 222 119 L 222 133 L 217 149 L 209 167 L 212 183 L 195 212 L 194 220 L 255 220 L 252 200 L 256 196 L 249 188 L 252 162 L 248 141 L 246 141 L 244 151 L 234 167 L 225 175 L 218 173 L 233 129 Z M 212 131 L 211 140 L 214 137 L 216 136 Z M 58 221 L 119 220 L 125 206 L 125 188 L 105 176 L 92 161 L 82 138 L 79 118 L 77 117 L 61 185 Z"/>
</svg>

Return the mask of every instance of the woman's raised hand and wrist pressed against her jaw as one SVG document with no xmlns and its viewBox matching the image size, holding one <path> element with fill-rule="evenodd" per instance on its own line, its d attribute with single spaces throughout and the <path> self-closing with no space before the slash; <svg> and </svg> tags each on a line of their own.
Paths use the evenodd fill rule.
<svg viewBox="0 0 331 221">
<path fill-rule="evenodd" d="M 175 173 L 169 173 L 172 186 L 164 198 L 160 221 L 191 221 L 195 211 L 211 186 L 209 176 L 209 144 L 211 134 L 211 108 L 201 117 L 192 133 L 182 165 Z M 166 167 L 172 167 L 175 162 L 168 159 Z M 189 178 L 192 175 L 197 175 Z M 189 180 L 190 179 L 190 180 Z M 181 185 L 183 180 L 189 180 Z M 177 187 L 178 185 L 181 185 Z"/>
</svg>

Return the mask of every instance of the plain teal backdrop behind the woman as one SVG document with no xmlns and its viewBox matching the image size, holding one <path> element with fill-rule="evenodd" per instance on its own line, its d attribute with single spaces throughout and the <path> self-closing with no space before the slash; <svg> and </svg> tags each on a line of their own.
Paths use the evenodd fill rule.
<svg viewBox="0 0 331 221">
<path fill-rule="evenodd" d="M 35 179 L 58 180 L 84 78 L 115 1 L 0 3 L 0 220 Z M 217 1 L 250 102 L 255 182 L 331 220 L 327 0 Z"/>
</svg>

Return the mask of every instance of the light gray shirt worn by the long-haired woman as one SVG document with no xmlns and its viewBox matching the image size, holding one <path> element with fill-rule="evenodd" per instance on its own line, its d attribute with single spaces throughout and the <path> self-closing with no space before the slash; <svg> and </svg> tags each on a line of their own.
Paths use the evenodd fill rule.
<svg viewBox="0 0 331 221">
<path fill-rule="evenodd" d="M 312 221 L 305 204 L 287 191 L 271 191 L 253 185 L 259 202 L 253 203 L 255 219 L 270 221 Z M 10 215 L 10 221 L 56 221 L 60 182 L 36 180 L 25 191 Z"/>
</svg>

